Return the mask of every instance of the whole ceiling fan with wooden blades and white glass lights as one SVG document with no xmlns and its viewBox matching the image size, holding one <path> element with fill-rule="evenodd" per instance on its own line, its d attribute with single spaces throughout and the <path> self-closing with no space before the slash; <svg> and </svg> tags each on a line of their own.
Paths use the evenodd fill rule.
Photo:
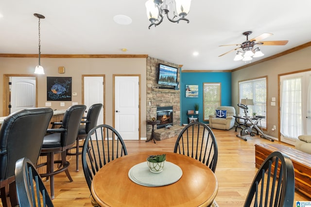
<svg viewBox="0 0 311 207">
<path fill-rule="evenodd" d="M 247 32 L 243 32 L 242 34 L 246 36 L 246 41 L 242 42 L 242 44 L 231 44 L 231 45 L 221 45 L 219 47 L 223 47 L 223 46 L 240 46 L 238 48 L 234 48 L 230 51 L 225 52 L 222 55 L 219 55 L 218 57 L 221 57 L 227 53 L 233 52 L 237 49 L 242 48 L 242 51 L 238 51 L 237 55 L 234 58 L 234 61 L 239 61 L 239 60 L 243 60 L 243 61 L 250 61 L 253 58 L 252 57 L 261 57 L 264 54 L 260 51 L 259 48 L 255 48 L 255 45 L 286 45 L 288 43 L 288 40 L 276 40 L 276 41 L 261 41 L 262 39 L 265 39 L 267 37 L 272 36 L 272 33 L 263 33 L 260 34 L 259 36 L 248 40 L 248 35 L 250 35 L 252 33 L 252 31 L 247 31 Z M 243 56 L 242 56 L 243 55 Z"/>
</svg>

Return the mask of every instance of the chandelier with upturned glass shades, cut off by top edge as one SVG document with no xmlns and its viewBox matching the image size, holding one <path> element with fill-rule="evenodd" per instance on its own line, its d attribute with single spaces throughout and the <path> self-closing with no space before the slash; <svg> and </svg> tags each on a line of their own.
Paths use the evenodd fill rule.
<svg viewBox="0 0 311 207">
<path fill-rule="evenodd" d="M 163 21 L 164 16 L 171 22 L 179 23 L 180 20 L 185 20 L 189 23 L 189 20 L 185 18 L 188 15 L 190 10 L 191 0 L 148 0 L 146 2 L 147 8 L 147 16 L 151 24 L 149 25 L 149 29 L 152 25 L 159 25 Z M 173 7 L 173 18 L 169 16 L 170 6 Z M 179 16 L 178 19 L 174 19 Z"/>
</svg>

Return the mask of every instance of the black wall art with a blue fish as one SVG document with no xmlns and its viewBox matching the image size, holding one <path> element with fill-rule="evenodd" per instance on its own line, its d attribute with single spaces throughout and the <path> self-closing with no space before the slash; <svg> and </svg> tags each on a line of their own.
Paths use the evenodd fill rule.
<svg viewBox="0 0 311 207">
<path fill-rule="evenodd" d="M 47 77 L 48 101 L 71 101 L 72 77 Z"/>
</svg>

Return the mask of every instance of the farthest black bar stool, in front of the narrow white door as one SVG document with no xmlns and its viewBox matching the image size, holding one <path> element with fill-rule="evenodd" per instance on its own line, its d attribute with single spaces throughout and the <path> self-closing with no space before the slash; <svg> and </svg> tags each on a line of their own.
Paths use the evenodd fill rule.
<svg viewBox="0 0 311 207">
<path fill-rule="evenodd" d="M 87 111 L 86 117 L 82 117 L 81 125 L 79 126 L 78 136 L 76 139 L 76 145 L 71 147 L 71 150 L 75 150 L 74 152 L 69 152 L 67 150 L 67 155 L 76 156 L 76 172 L 79 172 L 79 155 L 82 154 L 82 146 L 79 144 L 81 140 L 86 138 L 87 133 L 97 125 L 97 120 L 101 109 L 103 108 L 103 104 L 93 104 Z"/>
</svg>

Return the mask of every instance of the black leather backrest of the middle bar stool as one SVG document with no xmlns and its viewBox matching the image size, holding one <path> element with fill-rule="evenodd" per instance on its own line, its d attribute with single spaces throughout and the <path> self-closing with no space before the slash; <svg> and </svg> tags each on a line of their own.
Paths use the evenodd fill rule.
<svg viewBox="0 0 311 207">
<path fill-rule="evenodd" d="M 73 105 L 66 110 L 61 126 L 61 128 L 67 129 L 61 132 L 62 147 L 71 145 L 76 141 L 81 118 L 85 110 L 85 105 Z"/>
</svg>

